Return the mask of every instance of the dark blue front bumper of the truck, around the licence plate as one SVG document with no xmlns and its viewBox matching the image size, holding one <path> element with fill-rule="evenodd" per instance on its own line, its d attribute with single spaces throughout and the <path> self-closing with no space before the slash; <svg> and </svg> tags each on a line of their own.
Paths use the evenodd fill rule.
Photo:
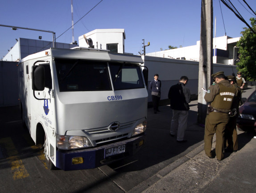
<svg viewBox="0 0 256 193">
<path fill-rule="evenodd" d="M 142 143 L 143 142 L 143 143 Z M 142 143 L 142 144 L 141 144 Z M 125 152 L 116 154 L 110 157 L 104 157 L 104 150 L 106 148 L 115 147 L 125 144 Z M 140 144 L 140 145 L 139 145 Z M 56 167 L 62 170 L 77 170 L 77 169 L 92 169 L 101 165 L 110 164 L 111 162 L 132 156 L 141 147 L 145 145 L 145 134 L 133 137 L 124 141 L 118 141 L 99 147 L 89 149 L 79 149 L 73 151 L 56 151 Z M 72 164 L 72 158 L 83 157 L 82 164 Z"/>
</svg>

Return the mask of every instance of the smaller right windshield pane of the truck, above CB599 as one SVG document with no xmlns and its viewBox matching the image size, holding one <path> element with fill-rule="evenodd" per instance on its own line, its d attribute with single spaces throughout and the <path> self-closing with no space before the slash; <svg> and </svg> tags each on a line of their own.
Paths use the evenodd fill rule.
<svg viewBox="0 0 256 193">
<path fill-rule="evenodd" d="M 145 88 L 139 64 L 110 62 L 114 90 Z"/>
</svg>

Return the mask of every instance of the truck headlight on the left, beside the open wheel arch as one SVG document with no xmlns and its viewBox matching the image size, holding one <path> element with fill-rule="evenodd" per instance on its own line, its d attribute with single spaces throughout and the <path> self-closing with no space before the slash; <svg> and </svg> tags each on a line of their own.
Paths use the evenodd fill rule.
<svg viewBox="0 0 256 193">
<path fill-rule="evenodd" d="M 56 144 L 59 149 L 71 150 L 92 147 L 87 137 L 83 136 L 67 136 L 56 134 Z"/>
</svg>

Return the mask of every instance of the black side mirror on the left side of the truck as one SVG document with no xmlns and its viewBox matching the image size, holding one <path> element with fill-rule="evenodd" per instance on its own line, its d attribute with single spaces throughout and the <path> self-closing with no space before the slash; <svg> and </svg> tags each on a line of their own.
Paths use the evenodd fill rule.
<svg viewBox="0 0 256 193">
<path fill-rule="evenodd" d="M 42 91 L 45 89 L 45 68 L 43 65 L 34 66 L 34 68 L 33 90 Z"/>
</svg>

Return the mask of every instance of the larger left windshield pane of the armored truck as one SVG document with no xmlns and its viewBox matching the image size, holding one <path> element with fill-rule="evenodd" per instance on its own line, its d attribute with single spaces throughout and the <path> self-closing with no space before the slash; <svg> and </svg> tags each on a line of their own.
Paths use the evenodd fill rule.
<svg viewBox="0 0 256 193">
<path fill-rule="evenodd" d="M 107 62 L 55 59 L 60 92 L 111 90 Z"/>
</svg>

